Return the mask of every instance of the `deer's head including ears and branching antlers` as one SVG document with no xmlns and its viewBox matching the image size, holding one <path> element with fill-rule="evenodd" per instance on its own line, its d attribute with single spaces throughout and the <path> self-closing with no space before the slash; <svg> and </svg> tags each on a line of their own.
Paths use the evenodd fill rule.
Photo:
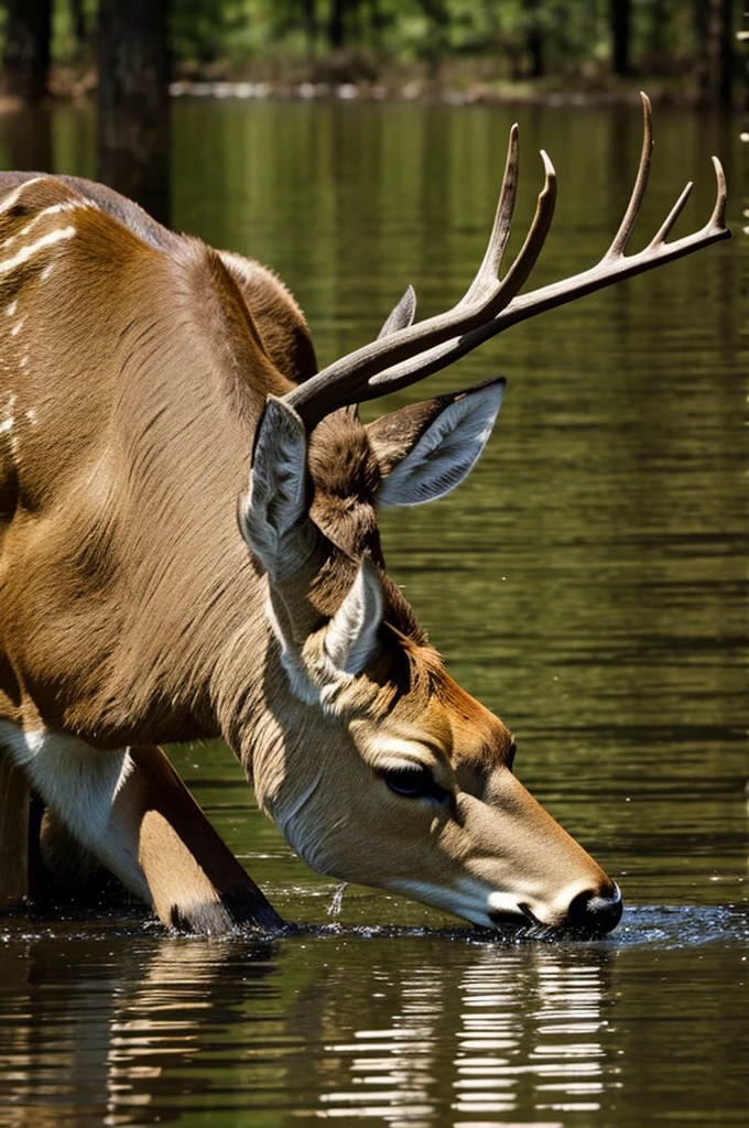
<svg viewBox="0 0 749 1128">
<path fill-rule="evenodd" d="M 596 266 L 519 297 L 554 209 L 554 169 L 543 153 L 536 217 L 500 281 L 518 178 L 513 129 L 488 247 L 465 297 L 414 324 L 407 290 L 376 341 L 270 396 L 239 506 L 243 535 L 267 580 L 275 666 L 266 675 L 285 681 L 283 693 L 266 697 L 275 724 L 246 738 L 262 805 L 320 872 L 404 892 L 479 925 L 599 934 L 622 913 L 616 884 L 520 784 L 510 732 L 452 681 L 385 572 L 376 510 L 453 488 L 488 439 L 504 381 L 368 426 L 353 405 L 423 379 L 514 321 L 729 235 L 715 160 L 717 200 L 706 227 L 666 241 L 687 186 L 649 246 L 625 254 L 650 168 L 644 96 L 643 106 L 635 187 Z"/>
</svg>

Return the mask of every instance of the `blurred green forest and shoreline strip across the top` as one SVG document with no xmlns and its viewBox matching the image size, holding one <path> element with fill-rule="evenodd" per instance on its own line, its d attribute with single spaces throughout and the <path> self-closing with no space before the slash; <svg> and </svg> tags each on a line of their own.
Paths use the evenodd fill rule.
<svg viewBox="0 0 749 1128">
<path fill-rule="evenodd" d="M 103 26 L 166 42 L 173 82 L 302 96 L 742 98 L 746 0 L 5 0 L 6 99 L 97 89 Z"/>
</svg>

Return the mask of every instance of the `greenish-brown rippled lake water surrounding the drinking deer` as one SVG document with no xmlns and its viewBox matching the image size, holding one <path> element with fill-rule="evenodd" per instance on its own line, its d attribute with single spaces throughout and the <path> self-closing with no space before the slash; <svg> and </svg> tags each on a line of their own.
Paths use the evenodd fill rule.
<svg viewBox="0 0 749 1128">
<path fill-rule="evenodd" d="M 327 362 L 407 282 L 422 314 L 459 297 L 514 116 L 514 247 L 539 147 L 559 177 L 544 284 L 616 230 L 636 111 L 179 104 L 175 226 L 272 264 Z M 713 151 L 734 240 L 517 326 L 387 405 L 509 377 L 475 473 L 386 514 L 384 544 L 450 672 L 512 728 L 523 782 L 620 882 L 620 927 L 511 943 L 341 892 L 255 810 L 226 748 L 171 749 L 303 928 L 205 941 L 138 910 L 3 919 L 0 1125 L 747 1122 L 749 204 L 738 123 L 659 109 L 655 130 L 635 246 L 693 177 L 677 233 L 702 226 Z M 83 111 L 0 120 L 5 166 L 91 175 L 91 141 Z"/>
</svg>

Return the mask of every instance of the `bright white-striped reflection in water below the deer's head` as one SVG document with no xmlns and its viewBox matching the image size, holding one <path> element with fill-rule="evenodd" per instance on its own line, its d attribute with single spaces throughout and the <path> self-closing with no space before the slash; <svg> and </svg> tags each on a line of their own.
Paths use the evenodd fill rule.
<svg viewBox="0 0 749 1128">
<path fill-rule="evenodd" d="M 505 1125 L 531 1113 L 550 1126 L 555 1111 L 599 1109 L 606 962 L 488 946 L 469 952 L 460 975 L 440 961 L 414 967 L 404 981 L 373 967 L 380 1021 L 325 1045 L 343 1078 L 320 1093 L 321 1114 L 413 1128 L 448 1117 Z"/>
</svg>

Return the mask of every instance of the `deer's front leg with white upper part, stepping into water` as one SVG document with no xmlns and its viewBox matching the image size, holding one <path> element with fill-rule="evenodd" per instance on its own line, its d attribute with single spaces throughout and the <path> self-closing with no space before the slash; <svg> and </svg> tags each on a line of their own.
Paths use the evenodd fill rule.
<svg viewBox="0 0 749 1128">
<path fill-rule="evenodd" d="M 204 933 L 283 924 L 160 748 L 102 752 L 3 722 L 0 738 L 54 816 L 164 924 Z"/>
</svg>

